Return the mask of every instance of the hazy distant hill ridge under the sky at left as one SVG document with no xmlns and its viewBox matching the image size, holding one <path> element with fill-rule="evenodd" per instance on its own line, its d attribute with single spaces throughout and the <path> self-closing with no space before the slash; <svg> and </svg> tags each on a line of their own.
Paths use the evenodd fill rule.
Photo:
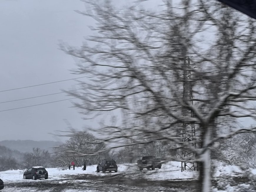
<svg viewBox="0 0 256 192">
<path fill-rule="evenodd" d="M 0 141 L 1 146 L 6 146 L 12 150 L 19 152 L 32 152 L 33 148 L 40 148 L 48 150 L 50 153 L 53 152 L 52 147 L 59 146 L 63 143 L 59 141 L 33 141 L 33 140 L 4 140 Z"/>
</svg>

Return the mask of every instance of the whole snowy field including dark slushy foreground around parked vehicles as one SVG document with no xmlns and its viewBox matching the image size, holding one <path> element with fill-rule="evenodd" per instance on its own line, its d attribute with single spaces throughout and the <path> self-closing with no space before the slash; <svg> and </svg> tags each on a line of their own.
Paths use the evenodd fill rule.
<svg viewBox="0 0 256 192">
<path fill-rule="evenodd" d="M 122 164 L 118 166 L 117 173 L 97 173 L 96 165 L 87 166 L 86 171 L 82 167 L 75 170 L 58 168 L 46 168 L 49 174 L 47 180 L 41 179 L 33 181 L 24 180 L 24 170 L 10 170 L 0 172 L 0 178 L 4 181 L 5 188 L 1 192 L 12 191 L 56 191 L 56 192 L 78 192 L 78 191 L 193 191 L 184 187 L 184 182 L 197 186 L 198 173 L 192 171 L 181 172 L 180 162 L 169 162 L 162 164 L 162 168 L 154 171 L 144 169 L 139 171 L 136 164 Z M 217 165 L 214 173 L 215 179 L 220 178 L 220 185 L 223 190 L 217 188 L 213 191 L 232 192 L 236 191 L 235 186 L 230 186 L 228 180 L 239 179 L 243 171 L 237 166 Z M 256 170 L 250 170 L 251 174 L 256 174 Z M 240 180 L 237 180 L 238 182 Z M 237 182 L 234 180 L 234 182 Z M 215 182 L 218 183 L 217 181 Z M 246 185 L 241 180 L 239 185 Z M 195 190 L 196 191 L 196 190 Z"/>
</svg>

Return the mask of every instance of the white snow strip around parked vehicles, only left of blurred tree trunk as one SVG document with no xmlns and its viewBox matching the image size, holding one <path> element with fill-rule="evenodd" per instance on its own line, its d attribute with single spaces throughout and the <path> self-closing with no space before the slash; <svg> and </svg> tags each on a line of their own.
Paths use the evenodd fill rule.
<svg viewBox="0 0 256 192">
<path fill-rule="evenodd" d="M 48 171 L 49 178 L 48 180 L 59 180 L 63 175 L 76 175 L 76 174 L 92 174 L 98 176 L 104 176 L 109 173 L 97 173 L 96 172 L 97 165 L 87 166 L 86 171 L 82 170 L 82 167 L 75 167 L 75 170 L 66 169 L 61 170 L 59 168 L 46 168 Z M 25 170 L 10 170 L 10 171 L 2 171 L 0 172 L 0 178 L 5 182 L 24 182 L 31 180 L 24 180 L 23 173 Z M 197 172 L 185 171 L 181 172 L 180 162 L 169 162 L 162 165 L 161 169 L 156 168 L 154 171 L 148 171 L 144 169 L 142 172 L 138 171 L 137 164 L 121 164 L 118 165 L 118 173 L 126 172 L 126 173 L 134 173 L 133 176 L 144 176 L 146 179 L 152 180 L 171 180 L 171 179 L 193 179 L 197 177 Z M 118 173 L 111 173 L 112 175 Z M 35 181 L 36 182 L 36 181 Z"/>
</svg>

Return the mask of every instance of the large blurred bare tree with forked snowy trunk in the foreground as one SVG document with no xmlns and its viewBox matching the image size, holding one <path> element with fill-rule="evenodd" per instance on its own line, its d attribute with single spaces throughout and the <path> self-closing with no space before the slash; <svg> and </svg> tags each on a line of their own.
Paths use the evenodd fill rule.
<svg viewBox="0 0 256 192">
<path fill-rule="evenodd" d="M 199 191 L 210 191 L 211 149 L 222 138 L 255 131 L 221 134 L 239 118 L 255 120 L 255 21 L 205 0 L 164 1 L 156 13 L 143 9 L 147 1 L 122 10 L 84 2 L 91 9 L 78 12 L 97 22 L 97 34 L 87 39 L 93 44 L 61 45 L 81 60 L 74 73 L 88 74 L 83 91 L 71 94 L 80 98 L 75 106 L 85 118 L 112 111 L 97 130 L 106 135 L 102 140 L 132 141 L 113 148 L 168 141 L 195 151 Z M 188 71 L 190 80 L 184 78 Z M 192 88 L 193 105 L 184 84 Z M 182 142 L 182 123 L 195 124 L 198 137 Z"/>
</svg>

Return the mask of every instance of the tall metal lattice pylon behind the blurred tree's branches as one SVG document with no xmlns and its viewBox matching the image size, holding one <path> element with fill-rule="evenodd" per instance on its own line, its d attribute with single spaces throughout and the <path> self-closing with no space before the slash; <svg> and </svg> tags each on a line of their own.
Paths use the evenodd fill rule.
<svg viewBox="0 0 256 192">
<path fill-rule="evenodd" d="M 184 59 L 184 66 L 186 69 L 184 69 L 184 82 L 183 82 L 183 97 L 184 99 L 187 99 L 189 101 L 189 104 L 193 105 L 193 94 L 192 94 L 192 85 L 191 85 L 191 71 L 190 68 L 190 57 L 187 56 L 186 59 Z M 194 117 L 193 111 L 183 109 L 183 115 Z M 193 142 L 195 138 L 195 124 L 192 123 L 183 123 L 182 126 L 182 142 L 188 142 L 191 143 L 191 146 L 196 148 L 196 143 Z M 188 159 L 188 160 L 194 160 L 195 159 L 195 152 L 194 151 L 182 151 L 182 159 Z M 196 163 L 189 163 L 189 162 L 181 162 L 181 171 L 184 171 L 189 169 L 192 171 L 196 170 Z"/>
</svg>

